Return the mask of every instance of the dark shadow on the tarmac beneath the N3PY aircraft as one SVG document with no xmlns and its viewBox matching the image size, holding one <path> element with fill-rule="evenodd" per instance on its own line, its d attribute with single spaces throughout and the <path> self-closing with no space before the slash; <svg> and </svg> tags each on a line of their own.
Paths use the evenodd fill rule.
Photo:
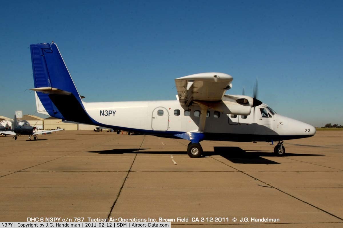
<svg viewBox="0 0 343 228">
<path fill-rule="evenodd" d="M 263 157 L 275 157 L 273 152 L 270 151 L 245 151 L 236 146 L 214 146 L 214 152 L 203 152 L 204 157 L 220 155 L 227 160 L 238 164 L 281 164 L 273 160 Z M 111 149 L 106 151 L 87 151 L 85 153 L 98 153 L 98 154 L 186 154 L 184 151 L 144 151 L 146 148 L 129 148 L 129 149 Z M 286 153 L 287 156 L 324 156 L 322 154 L 293 154 Z M 199 158 L 194 158 L 199 159 Z M 201 158 L 200 158 L 201 159 Z"/>
</svg>

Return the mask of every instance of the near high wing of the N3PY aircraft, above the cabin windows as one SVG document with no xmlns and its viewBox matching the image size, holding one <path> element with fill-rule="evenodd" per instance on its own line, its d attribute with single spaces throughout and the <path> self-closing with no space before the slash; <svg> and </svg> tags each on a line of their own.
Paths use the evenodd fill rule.
<svg viewBox="0 0 343 228">
<path fill-rule="evenodd" d="M 233 77 L 224 73 L 200 73 L 175 79 L 181 105 L 189 106 L 193 100 L 220 101 L 232 87 Z"/>
</svg>

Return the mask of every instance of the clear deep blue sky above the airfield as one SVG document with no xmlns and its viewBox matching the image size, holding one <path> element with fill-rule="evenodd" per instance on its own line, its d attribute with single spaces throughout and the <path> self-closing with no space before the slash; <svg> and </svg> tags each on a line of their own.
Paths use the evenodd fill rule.
<svg viewBox="0 0 343 228">
<path fill-rule="evenodd" d="M 6 1 L 0 115 L 34 114 L 29 45 L 54 41 L 85 101 L 175 99 L 174 79 L 223 72 L 315 126 L 343 124 L 342 1 Z M 26 91 L 25 91 L 26 90 Z M 39 115 L 38 115 L 39 116 Z"/>
</svg>

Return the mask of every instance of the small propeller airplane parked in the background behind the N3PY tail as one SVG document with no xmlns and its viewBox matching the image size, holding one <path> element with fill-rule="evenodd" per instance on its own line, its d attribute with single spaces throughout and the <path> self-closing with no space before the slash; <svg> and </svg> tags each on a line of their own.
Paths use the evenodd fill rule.
<svg viewBox="0 0 343 228">
<path fill-rule="evenodd" d="M 31 136 L 33 135 L 33 139 L 38 139 L 38 134 L 48 134 L 54 131 L 62 131 L 64 129 L 56 129 L 56 130 L 36 130 L 35 127 L 32 127 L 29 122 L 26 120 L 20 120 L 17 123 L 16 116 L 14 116 L 14 124 L 16 126 L 14 129 L 2 129 L 0 134 L 4 135 L 14 135 L 14 140 L 17 140 L 18 135 L 28 135 L 28 139 L 31 140 Z"/>
</svg>

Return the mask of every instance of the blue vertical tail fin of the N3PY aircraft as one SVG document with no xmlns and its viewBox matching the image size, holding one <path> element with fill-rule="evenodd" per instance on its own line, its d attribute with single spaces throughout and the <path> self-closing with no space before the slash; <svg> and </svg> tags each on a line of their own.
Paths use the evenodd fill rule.
<svg viewBox="0 0 343 228">
<path fill-rule="evenodd" d="M 93 123 L 55 43 L 30 45 L 37 96 L 50 116 Z"/>
</svg>

